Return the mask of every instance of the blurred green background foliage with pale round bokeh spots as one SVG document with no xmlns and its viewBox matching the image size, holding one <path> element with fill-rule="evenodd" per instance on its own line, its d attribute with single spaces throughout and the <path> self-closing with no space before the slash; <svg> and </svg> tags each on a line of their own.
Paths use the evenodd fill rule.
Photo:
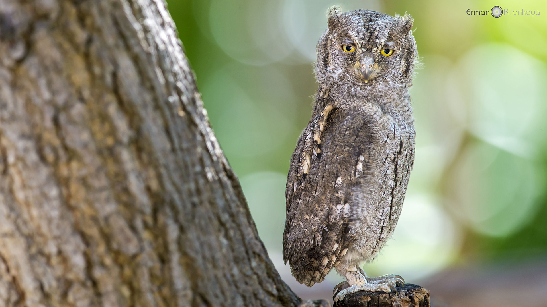
<svg viewBox="0 0 547 307">
<path fill-rule="evenodd" d="M 433 273 L 454 262 L 547 255 L 544 1 L 167 3 L 270 256 L 281 250 L 289 160 L 316 90 L 313 47 L 334 4 L 414 16 L 423 64 L 411 91 L 415 169 L 395 240 L 379 258 L 393 265 L 391 253 L 413 253 L 424 269 L 428 253 L 444 255 L 424 269 Z M 493 5 L 540 15 L 466 14 Z M 423 238 L 437 237 L 408 237 L 420 227 Z"/>
</svg>

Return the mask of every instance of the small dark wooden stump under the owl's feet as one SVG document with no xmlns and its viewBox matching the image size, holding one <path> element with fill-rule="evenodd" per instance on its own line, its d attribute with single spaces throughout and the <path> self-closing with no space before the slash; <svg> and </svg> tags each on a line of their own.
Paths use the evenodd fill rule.
<svg viewBox="0 0 547 307">
<path fill-rule="evenodd" d="M 334 304 L 338 307 L 430 307 L 429 291 L 417 285 L 405 284 L 389 293 L 359 291 Z"/>
</svg>

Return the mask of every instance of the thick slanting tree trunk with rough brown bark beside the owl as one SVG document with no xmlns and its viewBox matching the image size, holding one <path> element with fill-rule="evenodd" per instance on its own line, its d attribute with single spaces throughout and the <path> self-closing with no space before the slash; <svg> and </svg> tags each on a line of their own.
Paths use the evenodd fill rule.
<svg viewBox="0 0 547 307">
<path fill-rule="evenodd" d="M 0 1 L 0 306 L 295 306 L 160 0 Z"/>
</svg>

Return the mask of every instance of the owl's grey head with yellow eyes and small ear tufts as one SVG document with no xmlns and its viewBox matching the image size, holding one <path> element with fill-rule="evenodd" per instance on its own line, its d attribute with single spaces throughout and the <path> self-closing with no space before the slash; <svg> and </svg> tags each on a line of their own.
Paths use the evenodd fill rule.
<svg viewBox="0 0 547 307">
<path fill-rule="evenodd" d="M 317 80 L 363 89 L 410 86 L 418 56 L 413 21 L 410 15 L 330 8 L 328 28 L 317 44 Z"/>
</svg>

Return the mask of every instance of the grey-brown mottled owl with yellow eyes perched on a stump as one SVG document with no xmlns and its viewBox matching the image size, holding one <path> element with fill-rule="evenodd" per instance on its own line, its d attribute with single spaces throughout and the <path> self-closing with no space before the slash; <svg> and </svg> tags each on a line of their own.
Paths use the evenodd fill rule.
<svg viewBox="0 0 547 307">
<path fill-rule="evenodd" d="M 283 259 L 309 287 L 335 268 L 347 279 L 334 288 L 336 301 L 404 284 L 399 275 L 368 277 L 359 265 L 391 238 L 414 165 L 413 22 L 333 7 L 317 44 L 319 86 L 287 178 Z"/>
</svg>

